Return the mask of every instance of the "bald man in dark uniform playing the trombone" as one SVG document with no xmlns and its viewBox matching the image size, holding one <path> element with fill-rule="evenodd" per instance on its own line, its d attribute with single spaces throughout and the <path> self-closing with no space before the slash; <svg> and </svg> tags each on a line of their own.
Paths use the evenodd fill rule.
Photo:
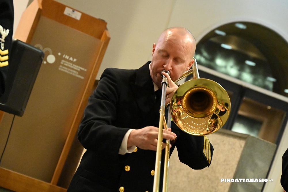
<svg viewBox="0 0 288 192">
<path fill-rule="evenodd" d="M 174 82 L 192 66 L 195 48 L 195 39 L 187 29 L 168 28 L 153 44 L 152 60 L 139 69 L 105 69 L 79 126 L 78 139 L 87 151 L 68 192 L 153 190 L 160 73 L 170 72 L 170 76 L 163 73 L 169 84 L 167 104 L 178 88 Z M 171 128 L 163 130 L 163 139 L 173 140 L 170 155 L 177 147 L 179 160 L 192 169 L 210 165 L 213 146 L 206 136 L 189 135 L 172 122 Z M 162 162 L 163 158 L 164 152 Z"/>
</svg>

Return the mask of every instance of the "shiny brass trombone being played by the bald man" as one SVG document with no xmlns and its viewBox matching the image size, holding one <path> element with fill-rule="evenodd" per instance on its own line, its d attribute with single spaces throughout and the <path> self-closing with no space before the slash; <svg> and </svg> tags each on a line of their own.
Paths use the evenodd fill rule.
<svg viewBox="0 0 288 192">
<path fill-rule="evenodd" d="M 171 102 L 168 103 L 168 118 L 165 120 L 165 95 L 168 86 L 167 78 L 162 75 L 162 97 L 160 106 L 159 132 L 156 151 L 155 174 L 153 192 L 159 191 L 163 128 L 168 129 L 171 118 L 185 133 L 202 136 L 214 133 L 227 121 L 231 103 L 225 89 L 215 81 L 199 77 L 196 59 L 192 68 L 185 72 L 176 82 L 179 87 L 175 91 Z M 169 71 L 164 71 L 169 73 Z M 179 85 L 179 80 L 192 74 L 192 79 Z M 165 144 L 165 160 L 162 191 L 168 188 L 168 166 L 170 155 L 170 140 Z"/>
</svg>

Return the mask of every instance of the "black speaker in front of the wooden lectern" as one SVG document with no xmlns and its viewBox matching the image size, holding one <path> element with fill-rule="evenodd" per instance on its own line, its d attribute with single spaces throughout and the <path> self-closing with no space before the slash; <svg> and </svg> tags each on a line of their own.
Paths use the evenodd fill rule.
<svg viewBox="0 0 288 192">
<path fill-rule="evenodd" d="M 22 116 L 44 58 L 42 50 L 14 39 L 0 110 Z"/>
</svg>

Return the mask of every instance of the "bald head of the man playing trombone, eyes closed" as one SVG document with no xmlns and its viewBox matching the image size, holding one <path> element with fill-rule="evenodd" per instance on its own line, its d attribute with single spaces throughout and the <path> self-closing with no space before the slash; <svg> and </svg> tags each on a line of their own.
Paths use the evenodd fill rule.
<svg viewBox="0 0 288 192">
<path fill-rule="evenodd" d="M 170 77 L 176 81 L 190 69 L 194 60 L 196 41 L 193 35 L 183 27 L 166 29 L 153 44 L 150 76 L 161 89 L 161 71 L 170 72 Z"/>
</svg>

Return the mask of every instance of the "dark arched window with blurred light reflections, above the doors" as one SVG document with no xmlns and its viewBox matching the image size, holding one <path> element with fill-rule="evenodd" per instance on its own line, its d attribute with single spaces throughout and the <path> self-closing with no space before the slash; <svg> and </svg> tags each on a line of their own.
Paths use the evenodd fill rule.
<svg viewBox="0 0 288 192">
<path fill-rule="evenodd" d="M 252 22 L 232 22 L 210 31 L 197 44 L 200 65 L 288 97 L 288 43 Z"/>
</svg>

